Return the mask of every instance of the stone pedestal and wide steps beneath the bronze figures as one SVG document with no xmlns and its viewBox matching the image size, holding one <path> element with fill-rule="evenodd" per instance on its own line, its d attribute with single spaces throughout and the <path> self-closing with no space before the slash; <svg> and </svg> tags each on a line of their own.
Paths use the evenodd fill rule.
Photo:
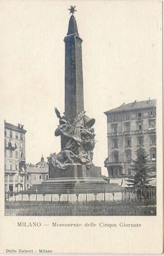
<svg viewBox="0 0 164 256">
<path fill-rule="evenodd" d="M 101 167 L 92 166 L 88 169 L 82 164 L 65 164 L 65 169 L 51 166 L 49 179 L 41 184 L 34 184 L 28 190 L 38 191 L 74 191 L 74 190 L 103 190 L 118 189 L 117 184 L 110 185 L 101 177 Z M 121 189 L 121 186 L 120 186 Z"/>
</svg>

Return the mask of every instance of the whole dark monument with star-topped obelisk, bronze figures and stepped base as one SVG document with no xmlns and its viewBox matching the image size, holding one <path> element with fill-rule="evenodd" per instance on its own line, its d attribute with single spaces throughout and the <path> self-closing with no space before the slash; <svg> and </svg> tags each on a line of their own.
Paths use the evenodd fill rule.
<svg viewBox="0 0 164 256">
<path fill-rule="evenodd" d="M 71 17 L 65 42 L 65 113 L 55 108 L 59 126 L 55 136 L 61 137 L 61 151 L 48 157 L 49 179 L 38 189 L 102 188 L 108 186 L 102 179 L 101 167 L 94 166 L 93 148 L 96 144 L 93 125 L 84 110 L 82 77 L 82 39 L 74 17 L 75 6 L 69 9 Z"/>
</svg>

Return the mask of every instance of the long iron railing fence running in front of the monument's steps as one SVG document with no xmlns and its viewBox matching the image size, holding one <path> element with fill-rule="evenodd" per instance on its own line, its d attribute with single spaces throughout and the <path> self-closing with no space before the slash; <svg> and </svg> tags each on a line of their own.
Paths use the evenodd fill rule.
<svg viewBox="0 0 164 256">
<path fill-rule="evenodd" d="M 5 192 L 5 201 L 146 201 L 156 198 L 156 188 L 115 190 L 65 190 Z"/>
</svg>

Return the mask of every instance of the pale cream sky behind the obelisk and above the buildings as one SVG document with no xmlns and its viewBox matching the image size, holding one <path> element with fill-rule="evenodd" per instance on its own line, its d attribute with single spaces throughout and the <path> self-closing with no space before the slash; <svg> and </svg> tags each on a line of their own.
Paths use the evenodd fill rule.
<svg viewBox="0 0 164 256">
<path fill-rule="evenodd" d="M 3 3 L 2 3 L 3 2 Z M 104 111 L 158 98 L 161 12 L 153 1 L 1 1 L 3 119 L 23 124 L 26 162 L 60 151 L 54 136 L 64 112 L 65 44 L 70 5 L 82 38 L 85 111 L 96 119 L 93 163 L 107 157 Z M 158 104 L 158 102 L 157 102 Z"/>
</svg>

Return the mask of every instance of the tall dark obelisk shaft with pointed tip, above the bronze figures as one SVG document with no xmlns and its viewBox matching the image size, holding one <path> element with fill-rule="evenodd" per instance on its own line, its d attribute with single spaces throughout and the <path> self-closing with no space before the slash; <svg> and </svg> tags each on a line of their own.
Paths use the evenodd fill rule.
<svg viewBox="0 0 164 256">
<path fill-rule="evenodd" d="M 65 118 L 84 111 L 82 78 L 82 39 L 79 38 L 74 15 L 71 15 L 65 42 Z"/>
</svg>

